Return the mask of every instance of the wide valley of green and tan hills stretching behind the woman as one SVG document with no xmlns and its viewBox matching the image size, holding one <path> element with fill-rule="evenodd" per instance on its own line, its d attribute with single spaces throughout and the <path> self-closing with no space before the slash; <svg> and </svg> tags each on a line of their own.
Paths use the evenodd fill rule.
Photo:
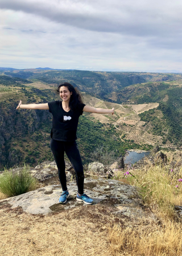
<svg viewBox="0 0 182 256">
<path fill-rule="evenodd" d="M 65 81 L 80 89 L 86 105 L 115 109 L 114 115 L 80 117 L 77 142 L 84 163 L 97 146 L 108 147 L 115 158 L 126 149 L 150 150 L 156 144 L 180 147 L 181 74 L 1 70 L 0 169 L 53 160 L 49 111 L 15 109 L 20 99 L 23 103 L 59 99 L 56 87 Z"/>
</svg>

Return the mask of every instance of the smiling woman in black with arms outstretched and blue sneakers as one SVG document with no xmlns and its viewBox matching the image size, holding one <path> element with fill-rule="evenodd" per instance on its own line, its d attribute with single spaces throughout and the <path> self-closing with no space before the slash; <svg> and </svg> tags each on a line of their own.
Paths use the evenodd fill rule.
<svg viewBox="0 0 182 256">
<path fill-rule="evenodd" d="M 60 94 L 62 101 L 28 105 L 23 105 L 22 101 L 20 101 L 16 109 L 45 109 L 52 113 L 51 150 L 56 161 L 59 179 L 63 189 L 59 202 L 65 203 L 69 197 L 67 178 L 65 175 L 65 152 L 76 172 L 76 182 L 78 186 L 76 200 L 91 205 L 93 199 L 84 194 L 84 170 L 76 143 L 78 118 L 82 115 L 83 111 L 100 114 L 114 114 L 114 108 L 109 110 L 86 106 L 82 102 L 78 90 L 70 83 L 61 84 L 57 88 L 57 92 Z"/>
</svg>

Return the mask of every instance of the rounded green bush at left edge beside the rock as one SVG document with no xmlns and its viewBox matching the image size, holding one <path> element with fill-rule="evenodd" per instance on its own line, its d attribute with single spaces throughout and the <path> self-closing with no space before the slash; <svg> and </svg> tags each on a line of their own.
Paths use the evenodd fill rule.
<svg viewBox="0 0 182 256">
<path fill-rule="evenodd" d="M 36 179 L 29 170 L 28 165 L 24 165 L 19 171 L 5 170 L 0 177 L 0 191 L 7 197 L 14 197 L 36 189 Z"/>
</svg>

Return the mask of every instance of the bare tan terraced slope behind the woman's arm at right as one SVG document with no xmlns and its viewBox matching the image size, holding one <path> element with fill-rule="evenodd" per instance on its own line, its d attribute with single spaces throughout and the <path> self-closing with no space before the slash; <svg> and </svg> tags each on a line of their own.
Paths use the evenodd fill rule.
<svg viewBox="0 0 182 256">
<path fill-rule="evenodd" d="M 112 124 L 120 133 L 119 138 L 122 141 L 130 140 L 131 142 L 142 145 L 143 143 L 149 145 L 156 145 L 158 143 L 162 146 L 163 137 L 151 133 L 151 127 L 146 126 L 146 122 L 140 121 L 139 113 L 156 109 L 159 103 L 148 103 L 139 105 L 121 105 L 117 103 L 110 103 L 101 101 L 100 99 L 84 95 L 84 102 L 94 107 L 102 107 L 104 109 L 115 109 L 115 114 L 88 114 L 89 117 L 104 123 L 105 125 Z"/>
</svg>

